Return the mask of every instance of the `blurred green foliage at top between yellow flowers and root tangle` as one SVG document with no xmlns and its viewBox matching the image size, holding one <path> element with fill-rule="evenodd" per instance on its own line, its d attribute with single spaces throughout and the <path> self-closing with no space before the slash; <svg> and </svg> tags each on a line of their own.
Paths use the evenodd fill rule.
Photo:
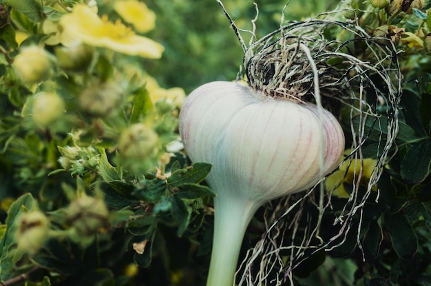
<svg viewBox="0 0 431 286">
<path fill-rule="evenodd" d="M 180 86 L 186 93 L 202 83 L 232 81 L 242 64 L 242 48 L 222 8 L 215 0 L 151 0 L 157 14 L 156 29 L 149 36 L 165 46 L 160 61 L 147 61 L 145 67 L 162 85 Z M 260 8 L 256 36 L 280 28 L 286 1 L 255 1 Z M 284 11 L 286 20 L 299 20 L 335 6 L 333 0 L 292 0 Z M 235 25 L 251 30 L 256 10 L 253 1 L 224 1 Z M 243 32 L 246 43 L 250 33 Z"/>
</svg>

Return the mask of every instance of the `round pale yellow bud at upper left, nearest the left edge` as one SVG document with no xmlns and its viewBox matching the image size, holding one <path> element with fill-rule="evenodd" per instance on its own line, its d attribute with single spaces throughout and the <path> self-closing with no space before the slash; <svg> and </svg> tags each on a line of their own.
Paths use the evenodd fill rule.
<svg viewBox="0 0 431 286">
<path fill-rule="evenodd" d="M 50 60 L 43 48 L 33 45 L 24 48 L 12 63 L 24 83 L 38 83 L 50 75 Z"/>
</svg>

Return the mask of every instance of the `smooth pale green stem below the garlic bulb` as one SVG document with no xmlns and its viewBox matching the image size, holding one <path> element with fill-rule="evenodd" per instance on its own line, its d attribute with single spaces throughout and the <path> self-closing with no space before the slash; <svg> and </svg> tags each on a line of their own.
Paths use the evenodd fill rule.
<svg viewBox="0 0 431 286">
<path fill-rule="evenodd" d="M 260 204 L 246 198 L 214 199 L 214 235 L 207 286 L 232 286 L 247 225 Z"/>
</svg>

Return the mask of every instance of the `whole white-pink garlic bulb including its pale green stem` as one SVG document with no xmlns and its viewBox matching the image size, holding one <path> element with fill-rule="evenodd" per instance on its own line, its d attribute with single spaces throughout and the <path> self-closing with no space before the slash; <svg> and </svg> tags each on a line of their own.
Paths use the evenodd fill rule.
<svg viewBox="0 0 431 286">
<path fill-rule="evenodd" d="M 180 135 L 191 161 L 213 164 L 207 183 L 218 194 L 207 285 L 233 284 L 257 208 L 312 187 L 339 163 L 343 131 L 330 112 L 320 111 L 233 82 L 207 83 L 187 97 Z"/>
</svg>

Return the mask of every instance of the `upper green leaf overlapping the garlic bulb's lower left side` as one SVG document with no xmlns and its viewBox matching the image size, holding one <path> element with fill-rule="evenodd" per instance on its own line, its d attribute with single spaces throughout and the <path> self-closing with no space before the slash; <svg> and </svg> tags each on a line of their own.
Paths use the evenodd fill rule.
<svg viewBox="0 0 431 286">
<path fill-rule="evenodd" d="M 167 179 L 171 187 L 180 187 L 186 183 L 200 183 L 209 174 L 212 165 L 209 163 L 193 163 L 186 169 L 176 170 Z"/>
</svg>

